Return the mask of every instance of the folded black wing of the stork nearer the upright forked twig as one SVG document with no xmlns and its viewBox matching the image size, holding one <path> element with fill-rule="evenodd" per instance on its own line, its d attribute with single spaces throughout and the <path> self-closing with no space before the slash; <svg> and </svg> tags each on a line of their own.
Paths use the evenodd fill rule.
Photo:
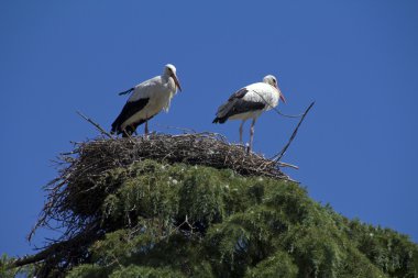
<svg viewBox="0 0 418 278">
<path fill-rule="evenodd" d="M 249 92 L 248 88 L 242 88 L 234 92 L 228 99 L 228 102 L 219 107 L 217 118 L 212 123 L 224 123 L 232 115 L 264 109 L 265 103 L 244 99 Z"/>
</svg>

